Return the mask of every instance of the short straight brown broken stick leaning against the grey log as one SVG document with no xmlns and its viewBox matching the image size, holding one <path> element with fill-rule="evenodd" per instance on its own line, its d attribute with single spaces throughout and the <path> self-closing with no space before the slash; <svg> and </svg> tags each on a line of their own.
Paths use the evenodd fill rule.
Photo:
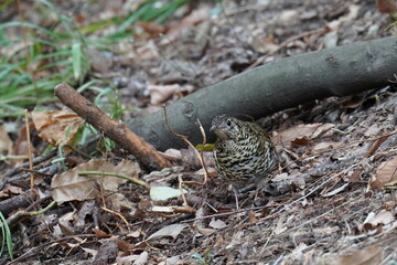
<svg viewBox="0 0 397 265">
<path fill-rule="evenodd" d="M 110 118 L 66 83 L 55 87 L 55 96 L 88 124 L 131 152 L 144 167 L 159 170 L 170 166 L 150 144 L 129 130 L 126 125 Z"/>
</svg>

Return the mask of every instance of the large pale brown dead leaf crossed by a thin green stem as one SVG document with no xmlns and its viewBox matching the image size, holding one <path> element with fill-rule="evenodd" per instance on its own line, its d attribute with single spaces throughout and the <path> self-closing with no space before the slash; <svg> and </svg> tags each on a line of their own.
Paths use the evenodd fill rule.
<svg viewBox="0 0 397 265">
<path fill-rule="evenodd" d="M 117 166 L 101 159 L 93 159 L 82 163 L 53 178 L 51 183 L 52 197 L 56 202 L 94 199 L 98 194 L 97 187 L 103 187 L 108 191 L 117 191 L 118 186 L 127 181 L 103 174 L 79 176 L 79 171 L 110 172 L 136 178 L 140 173 L 140 168 L 137 162 L 129 160 L 122 160 Z"/>
</svg>

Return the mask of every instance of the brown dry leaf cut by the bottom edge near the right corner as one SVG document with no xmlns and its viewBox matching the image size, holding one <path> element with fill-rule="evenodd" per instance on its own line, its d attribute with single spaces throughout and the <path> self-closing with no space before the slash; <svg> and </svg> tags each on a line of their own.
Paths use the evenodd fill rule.
<svg viewBox="0 0 397 265">
<path fill-rule="evenodd" d="M 377 265 L 380 264 L 383 251 L 379 246 L 368 246 L 352 254 L 343 255 L 331 262 L 332 265 Z"/>
</svg>

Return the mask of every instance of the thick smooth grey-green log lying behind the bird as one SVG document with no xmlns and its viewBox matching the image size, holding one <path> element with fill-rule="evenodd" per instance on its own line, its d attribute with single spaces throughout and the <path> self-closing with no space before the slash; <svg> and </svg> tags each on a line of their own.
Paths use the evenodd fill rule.
<svg viewBox="0 0 397 265">
<path fill-rule="evenodd" d="M 254 118 L 330 96 L 346 96 L 386 86 L 397 73 L 397 36 L 358 42 L 282 59 L 200 89 L 170 105 L 169 124 L 193 144 L 201 142 L 218 114 Z M 127 121 L 159 150 L 184 144 L 165 126 L 162 112 Z M 213 134 L 208 135 L 210 141 Z"/>
</svg>

